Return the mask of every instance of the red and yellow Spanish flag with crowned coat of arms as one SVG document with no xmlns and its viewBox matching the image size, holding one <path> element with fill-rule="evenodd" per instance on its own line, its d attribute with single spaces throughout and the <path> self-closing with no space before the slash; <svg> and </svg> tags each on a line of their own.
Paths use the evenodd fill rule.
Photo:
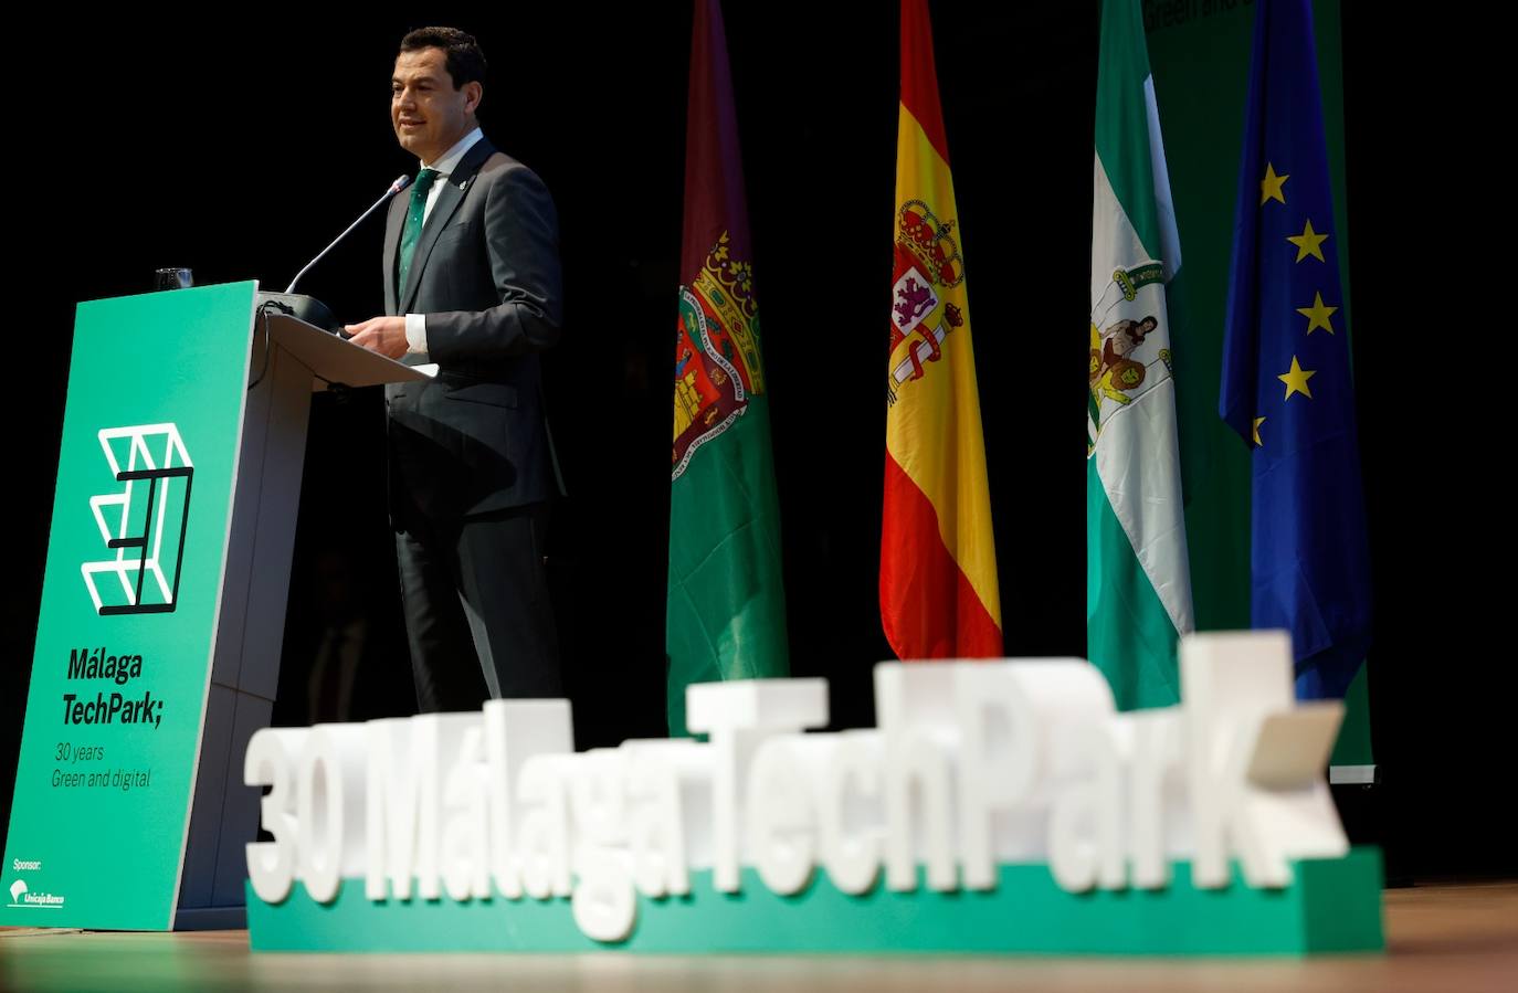
<svg viewBox="0 0 1518 993">
<path fill-rule="evenodd" d="M 902 0 L 880 623 L 902 659 L 1002 654 L 981 398 L 927 0 Z"/>
</svg>

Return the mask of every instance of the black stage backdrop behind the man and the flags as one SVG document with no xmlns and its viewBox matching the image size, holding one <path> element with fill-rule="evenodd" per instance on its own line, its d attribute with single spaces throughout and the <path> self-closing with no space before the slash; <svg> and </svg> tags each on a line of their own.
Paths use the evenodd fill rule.
<svg viewBox="0 0 1518 993">
<path fill-rule="evenodd" d="M 1398 162 L 1439 158 L 1406 129 L 1438 125 L 1409 125 L 1400 100 L 1410 85 L 1372 41 L 1380 24 L 1356 3 L 1345 6 L 1356 360 L 1362 384 L 1387 398 L 1377 410 L 1406 411 L 1418 392 L 1409 363 L 1424 348 L 1407 317 L 1425 310 L 1407 296 L 1424 279 L 1409 263 L 1424 249 L 1400 241 L 1407 214 L 1387 197 L 1413 175 Z M 876 569 L 897 9 L 730 2 L 726 17 L 771 383 L 792 671 L 826 676 L 835 726 L 858 726 L 874 717 L 870 668 L 888 657 Z M 1006 648 L 1078 656 L 1085 642 L 1079 314 L 1088 310 L 1098 8 L 935 3 L 934 18 L 973 273 Z M 427 20 L 478 35 L 492 65 L 486 134 L 543 176 L 560 211 L 566 325 L 545 370 L 569 489 L 554 521 L 553 582 L 578 742 L 660 735 L 689 5 L 440 6 Z M 46 36 L 12 35 L 24 70 L 11 79 L 8 106 L 8 214 L 18 223 L 6 333 L 20 416 L 6 433 L 18 471 L 6 501 L 0 827 L 35 636 L 74 304 L 144 292 L 158 266 L 190 266 L 200 284 L 258 278 L 284 288 L 396 175 L 414 172 L 390 131 L 389 76 L 396 43 L 419 23 L 372 12 L 320 24 L 294 15 L 165 24 L 106 14 Z M 1163 109 L 1163 91 L 1160 100 Z M 378 314 L 381 228 L 372 219 L 302 288 L 345 320 Z M 1394 272 L 1401 275 L 1387 276 Z M 1394 296 L 1389 285 L 1401 288 Z M 1456 383 L 1465 375 L 1457 354 L 1442 364 L 1442 390 L 1477 389 Z M 1453 803 L 1465 824 L 1459 838 L 1491 837 L 1472 856 L 1454 829 L 1416 832 L 1409 850 L 1428 853 L 1419 868 L 1489 868 L 1501 858 L 1512 865 L 1495 841 L 1488 780 L 1460 779 L 1472 759 L 1512 758 L 1495 730 L 1507 698 L 1471 698 L 1483 695 L 1471 694 L 1472 680 L 1510 654 L 1479 639 L 1491 586 L 1462 565 L 1465 548 L 1492 539 L 1479 518 L 1457 512 L 1460 498 L 1447 484 L 1454 472 L 1475 478 L 1459 448 L 1474 442 L 1475 425 L 1448 396 L 1438 408 L 1419 402 L 1415 425 L 1392 430 L 1384 415 L 1366 425 L 1363 442 L 1383 607 L 1377 758 L 1387 770 L 1401 762 L 1404 820 Z M 1450 440 L 1430 445 L 1430 436 Z M 1413 518 L 1430 516 L 1439 528 L 1410 528 Z M 332 556 L 358 563 L 351 582 L 367 610 L 393 623 L 389 542 L 381 399 L 322 396 L 287 653 L 311 644 L 323 609 L 322 563 Z M 1450 638 L 1465 641 L 1456 654 L 1439 653 L 1442 674 L 1431 679 L 1427 659 Z M 404 708 L 405 670 L 384 673 L 396 689 L 390 705 Z M 1430 708 L 1433 717 L 1419 715 Z M 1491 774 L 1504 776 L 1501 767 Z M 1462 846 L 1465 862 L 1450 855 Z"/>
</svg>

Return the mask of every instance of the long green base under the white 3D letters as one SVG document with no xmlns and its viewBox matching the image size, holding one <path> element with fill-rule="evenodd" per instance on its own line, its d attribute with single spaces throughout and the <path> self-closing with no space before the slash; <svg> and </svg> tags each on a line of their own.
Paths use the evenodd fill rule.
<svg viewBox="0 0 1518 993">
<path fill-rule="evenodd" d="M 627 941 L 580 934 L 569 899 L 454 902 L 364 899 L 345 879 L 329 905 L 296 884 L 282 903 L 247 888 L 255 952 L 591 952 L 688 954 L 1034 954 L 1034 955 L 1310 955 L 1380 952 L 1381 856 L 1293 865 L 1286 890 L 1251 890 L 1234 868 L 1225 890 L 1198 890 L 1190 865 L 1169 888 L 1072 894 L 1043 864 L 1002 865 L 996 890 L 841 893 L 818 872 L 797 896 L 776 896 L 751 868 L 742 891 L 718 893 L 710 872 L 691 873 L 683 897 L 638 896 Z"/>
</svg>

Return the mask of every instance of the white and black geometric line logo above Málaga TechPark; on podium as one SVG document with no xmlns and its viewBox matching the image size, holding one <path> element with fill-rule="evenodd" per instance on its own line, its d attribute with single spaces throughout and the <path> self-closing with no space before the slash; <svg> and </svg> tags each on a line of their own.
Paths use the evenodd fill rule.
<svg viewBox="0 0 1518 993">
<path fill-rule="evenodd" d="M 100 539 L 115 551 L 114 559 L 80 566 L 90 600 L 102 615 L 168 613 L 179 603 L 194 480 L 179 428 L 141 424 L 97 436 L 123 487 L 90 498 Z"/>
</svg>

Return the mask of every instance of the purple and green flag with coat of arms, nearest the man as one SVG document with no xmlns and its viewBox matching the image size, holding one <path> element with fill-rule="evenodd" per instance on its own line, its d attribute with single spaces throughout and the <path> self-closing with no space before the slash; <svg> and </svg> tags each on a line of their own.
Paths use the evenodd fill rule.
<svg viewBox="0 0 1518 993">
<path fill-rule="evenodd" d="M 685 688 L 786 674 L 780 510 L 718 0 L 695 0 L 669 490 L 669 730 Z"/>
</svg>

